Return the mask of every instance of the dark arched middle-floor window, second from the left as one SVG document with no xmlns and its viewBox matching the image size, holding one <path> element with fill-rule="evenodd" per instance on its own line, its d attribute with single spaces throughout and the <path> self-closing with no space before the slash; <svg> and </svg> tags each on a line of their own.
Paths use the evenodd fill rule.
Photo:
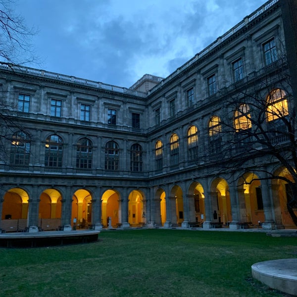
<svg viewBox="0 0 297 297">
<path fill-rule="evenodd" d="M 53 134 L 46 140 L 46 167 L 62 167 L 63 142 L 62 139 Z"/>
</svg>

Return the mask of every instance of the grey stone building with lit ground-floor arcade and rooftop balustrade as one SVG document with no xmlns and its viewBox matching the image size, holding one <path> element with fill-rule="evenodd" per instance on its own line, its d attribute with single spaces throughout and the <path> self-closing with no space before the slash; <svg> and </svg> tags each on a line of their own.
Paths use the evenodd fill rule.
<svg viewBox="0 0 297 297">
<path fill-rule="evenodd" d="M 277 99 L 270 108 L 290 113 L 280 2 L 266 2 L 167 78 L 146 74 L 131 88 L 2 65 L 12 122 L 2 127 L 0 227 L 292 226 L 286 182 L 265 179 L 289 175 L 277 161 L 232 173 L 218 166 L 221 122 L 251 125 L 244 97 L 239 112 L 231 94 L 262 85 L 263 98 Z"/>
</svg>

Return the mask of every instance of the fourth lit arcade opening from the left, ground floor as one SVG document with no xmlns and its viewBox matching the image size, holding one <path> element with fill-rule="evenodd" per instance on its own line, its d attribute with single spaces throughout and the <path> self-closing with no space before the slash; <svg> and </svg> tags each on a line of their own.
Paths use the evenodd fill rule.
<svg viewBox="0 0 297 297">
<path fill-rule="evenodd" d="M 102 195 L 102 225 L 107 227 L 107 218 L 110 219 L 111 226 L 118 227 L 121 221 L 121 213 L 119 212 L 120 196 L 118 192 L 107 190 Z"/>
</svg>

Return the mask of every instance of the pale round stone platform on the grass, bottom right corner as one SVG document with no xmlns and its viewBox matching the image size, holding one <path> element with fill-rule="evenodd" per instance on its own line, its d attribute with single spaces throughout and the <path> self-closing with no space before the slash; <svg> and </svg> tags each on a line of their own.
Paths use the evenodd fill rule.
<svg viewBox="0 0 297 297">
<path fill-rule="evenodd" d="M 279 259 L 251 265 L 252 277 L 272 289 L 297 296 L 297 259 Z"/>
</svg>

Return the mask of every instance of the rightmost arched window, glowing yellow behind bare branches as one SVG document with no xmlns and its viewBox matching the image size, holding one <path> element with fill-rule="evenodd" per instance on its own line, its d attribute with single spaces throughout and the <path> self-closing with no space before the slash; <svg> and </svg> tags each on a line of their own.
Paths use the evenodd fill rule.
<svg viewBox="0 0 297 297">
<path fill-rule="evenodd" d="M 289 114 L 287 94 L 282 89 L 275 89 L 267 97 L 267 120 L 268 122 L 279 119 Z"/>
</svg>

